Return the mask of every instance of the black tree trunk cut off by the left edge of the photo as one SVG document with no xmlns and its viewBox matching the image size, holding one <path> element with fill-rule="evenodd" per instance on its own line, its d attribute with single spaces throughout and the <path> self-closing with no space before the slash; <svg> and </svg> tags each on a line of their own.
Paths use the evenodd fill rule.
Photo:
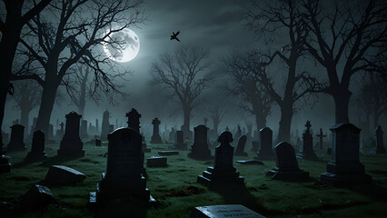
<svg viewBox="0 0 387 218">
<path fill-rule="evenodd" d="M 12 93 L 9 90 L 9 82 L 23 26 L 39 14 L 50 2 L 51 0 L 42 0 L 38 3 L 34 1 L 34 5 L 28 5 L 25 4 L 25 0 L 18 0 L 2 1 L 2 5 L 0 5 L 1 13 L 6 13 L 6 15 L 2 14 L 0 17 L 0 32 L 2 35 L 0 40 L 0 60 L 2 61 L 2 71 L 0 73 L 0 133 L 2 132 L 1 126 L 4 119 L 6 94 Z M 1 144 L 3 144 L 2 137 L 0 138 Z"/>
</svg>

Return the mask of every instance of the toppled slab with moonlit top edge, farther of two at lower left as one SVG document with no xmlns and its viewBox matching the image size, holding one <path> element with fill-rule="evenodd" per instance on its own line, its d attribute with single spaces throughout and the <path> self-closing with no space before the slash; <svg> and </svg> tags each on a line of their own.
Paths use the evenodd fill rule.
<svg viewBox="0 0 387 218">
<path fill-rule="evenodd" d="M 70 184 L 84 181 L 86 175 L 64 165 L 52 165 L 45 175 L 45 182 L 50 184 Z"/>
</svg>

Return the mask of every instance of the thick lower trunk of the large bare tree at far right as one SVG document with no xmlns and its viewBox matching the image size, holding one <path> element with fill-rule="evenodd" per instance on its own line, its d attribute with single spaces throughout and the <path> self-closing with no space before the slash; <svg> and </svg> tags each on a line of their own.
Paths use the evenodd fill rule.
<svg viewBox="0 0 387 218">
<path fill-rule="evenodd" d="M 350 123 L 348 116 L 348 104 L 350 103 L 351 92 L 348 88 L 335 88 L 332 89 L 332 97 L 335 107 L 335 121 L 336 124 Z"/>
</svg>

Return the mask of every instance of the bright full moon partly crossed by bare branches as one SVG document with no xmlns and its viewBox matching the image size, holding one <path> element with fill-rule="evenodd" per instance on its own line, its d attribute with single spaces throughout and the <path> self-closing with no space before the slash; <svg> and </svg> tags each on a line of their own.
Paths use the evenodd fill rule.
<svg viewBox="0 0 387 218">
<path fill-rule="evenodd" d="M 104 54 L 115 62 L 125 63 L 132 61 L 140 50 L 140 39 L 133 30 L 124 28 L 120 32 L 109 35 L 108 42 L 119 42 L 109 44 L 105 42 Z"/>
</svg>

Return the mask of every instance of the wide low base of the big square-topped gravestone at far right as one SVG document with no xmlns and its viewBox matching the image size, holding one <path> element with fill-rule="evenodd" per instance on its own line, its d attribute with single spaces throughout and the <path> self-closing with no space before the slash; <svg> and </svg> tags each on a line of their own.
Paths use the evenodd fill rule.
<svg viewBox="0 0 387 218">
<path fill-rule="evenodd" d="M 333 174 L 322 173 L 320 179 L 332 187 L 346 187 L 349 185 L 371 184 L 372 177 L 368 174 Z"/>
</svg>

